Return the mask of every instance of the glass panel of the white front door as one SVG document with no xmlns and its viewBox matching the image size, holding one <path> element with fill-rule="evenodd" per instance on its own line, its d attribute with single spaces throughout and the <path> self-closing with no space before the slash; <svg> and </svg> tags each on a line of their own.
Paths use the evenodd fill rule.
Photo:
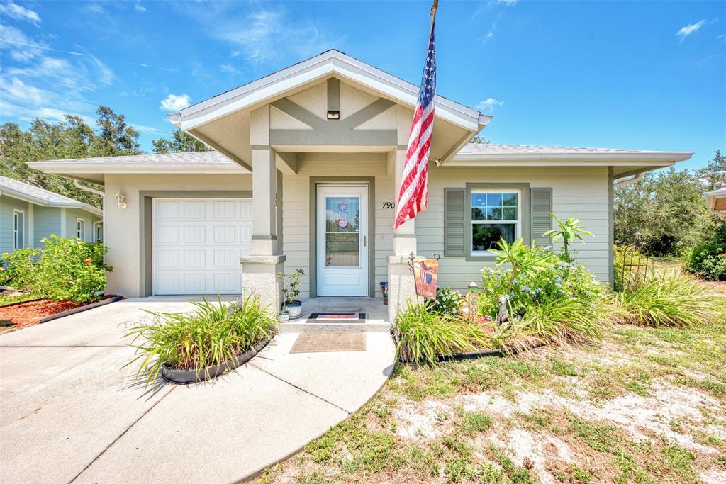
<svg viewBox="0 0 726 484">
<path fill-rule="evenodd" d="M 360 265 L 359 197 L 325 197 L 325 266 Z"/>
</svg>

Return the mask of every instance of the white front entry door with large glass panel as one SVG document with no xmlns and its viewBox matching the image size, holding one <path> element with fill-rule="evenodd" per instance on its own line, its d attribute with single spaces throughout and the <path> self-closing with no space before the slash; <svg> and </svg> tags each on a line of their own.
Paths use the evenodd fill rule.
<svg viewBox="0 0 726 484">
<path fill-rule="evenodd" d="M 317 188 L 317 294 L 368 295 L 368 186 Z"/>
</svg>

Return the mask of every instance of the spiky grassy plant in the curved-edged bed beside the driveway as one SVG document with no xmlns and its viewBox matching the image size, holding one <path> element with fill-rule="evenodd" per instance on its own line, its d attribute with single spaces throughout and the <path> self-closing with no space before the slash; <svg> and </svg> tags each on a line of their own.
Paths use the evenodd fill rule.
<svg viewBox="0 0 726 484">
<path fill-rule="evenodd" d="M 126 365 L 140 360 L 136 376 L 148 373 L 147 384 L 156 379 L 165 363 L 174 369 L 196 369 L 200 374 L 208 366 L 245 353 L 277 330 L 277 321 L 256 298 L 248 297 L 241 305 L 227 305 L 219 297 L 216 303 L 203 299 L 192 304 L 196 308 L 192 313 L 147 311 L 152 317 L 149 324 L 126 331 L 126 337 L 133 337 L 131 345 L 137 353 Z"/>
</svg>

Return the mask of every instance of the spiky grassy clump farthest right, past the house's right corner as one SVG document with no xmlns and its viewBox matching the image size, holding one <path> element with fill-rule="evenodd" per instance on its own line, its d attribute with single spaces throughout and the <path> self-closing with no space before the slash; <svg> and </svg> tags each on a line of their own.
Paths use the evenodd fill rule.
<svg viewBox="0 0 726 484">
<path fill-rule="evenodd" d="M 712 295 L 692 276 L 662 274 L 615 295 L 623 319 L 644 326 L 688 327 L 726 317 L 726 299 Z"/>
</svg>

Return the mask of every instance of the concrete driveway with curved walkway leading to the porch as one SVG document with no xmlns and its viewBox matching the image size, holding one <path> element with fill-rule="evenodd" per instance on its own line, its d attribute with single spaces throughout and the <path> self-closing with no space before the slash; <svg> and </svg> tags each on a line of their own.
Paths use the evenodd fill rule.
<svg viewBox="0 0 726 484">
<path fill-rule="evenodd" d="M 345 419 L 393 370 L 387 333 L 366 333 L 364 352 L 294 354 L 285 333 L 213 382 L 136 382 L 124 327 L 189 308 L 129 299 L 1 335 L 0 482 L 234 482 Z"/>
</svg>

